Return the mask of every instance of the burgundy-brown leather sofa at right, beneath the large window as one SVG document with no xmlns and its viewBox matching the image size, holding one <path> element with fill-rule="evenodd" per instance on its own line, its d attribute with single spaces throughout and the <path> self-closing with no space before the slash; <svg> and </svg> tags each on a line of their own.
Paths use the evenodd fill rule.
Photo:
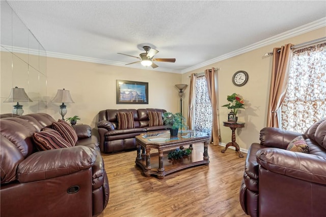
<svg viewBox="0 0 326 217">
<path fill-rule="evenodd" d="M 303 135 L 308 153 L 286 150 Z M 266 127 L 249 148 L 240 204 L 250 216 L 325 216 L 326 119 L 304 133 Z"/>
</svg>

